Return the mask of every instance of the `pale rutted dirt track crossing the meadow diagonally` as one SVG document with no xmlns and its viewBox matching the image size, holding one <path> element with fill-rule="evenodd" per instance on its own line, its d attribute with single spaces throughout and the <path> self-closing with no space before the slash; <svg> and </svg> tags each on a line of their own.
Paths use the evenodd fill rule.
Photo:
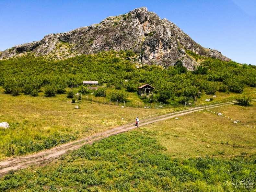
<svg viewBox="0 0 256 192">
<path fill-rule="evenodd" d="M 207 106 L 206 107 L 205 106 L 197 107 L 197 108 L 192 108 L 192 109 L 187 109 L 187 110 L 183 110 L 183 111 L 178 111 L 178 112 L 174 112 L 174 113 L 161 115 L 161 116 L 150 118 L 150 119 L 144 119 L 143 121 L 140 122 L 140 127 L 144 126 L 144 125 L 148 125 L 150 123 L 155 123 L 157 121 L 171 119 L 174 117 L 186 115 L 186 114 L 196 112 L 196 111 L 202 111 L 205 108 L 207 108 L 207 109 L 215 108 L 215 107 L 230 105 L 230 104 L 234 104 L 234 103 L 236 103 L 236 102 L 227 102 L 227 103 L 222 103 L 222 104 L 211 105 L 208 107 Z M 59 145 L 59 146 L 54 147 L 49 150 L 37 152 L 34 154 L 30 154 L 30 155 L 17 156 L 17 157 L 13 157 L 13 158 L 4 160 L 4 161 L 0 162 L 0 177 L 5 175 L 6 173 L 8 173 L 10 170 L 23 169 L 32 164 L 40 165 L 40 164 L 43 164 L 53 158 L 57 158 L 69 151 L 79 149 L 84 144 L 92 144 L 94 141 L 98 141 L 103 138 L 107 138 L 111 135 L 116 135 L 119 133 L 126 132 L 128 130 L 136 129 L 136 128 L 137 127 L 133 123 L 126 124 L 126 125 L 122 125 L 120 127 L 113 128 L 111 130 L 106 130 L 104 132 L 100 132 L 100 133 L 91 135 L 89 137 L 86 137 L 86 138 L 83 138 L 80 140 L 76 140 L 76 141 L 72 141 L 72 142 L 69 142 L 69 143 L 66 143 L 63 145 Z"/>
</svg>

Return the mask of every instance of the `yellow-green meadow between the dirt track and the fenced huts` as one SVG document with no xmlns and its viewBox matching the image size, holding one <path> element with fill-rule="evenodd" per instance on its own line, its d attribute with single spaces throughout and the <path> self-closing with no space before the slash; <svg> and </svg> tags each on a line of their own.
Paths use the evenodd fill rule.
<svg viewBox="0 0 256 192">
<path fill-rule="evenodd" d="M 0 88 L 0 159 L 49 149 L 113 127 L 172 112 L 172 109 L 121 108 L 86 100 L 71 103 L 66 94 L 55 97 L 11 96 Z M 75 109 L 79 105 L 80 109 Z M 123 118 L 123 119 L 122 119 Z"/>
</svg>

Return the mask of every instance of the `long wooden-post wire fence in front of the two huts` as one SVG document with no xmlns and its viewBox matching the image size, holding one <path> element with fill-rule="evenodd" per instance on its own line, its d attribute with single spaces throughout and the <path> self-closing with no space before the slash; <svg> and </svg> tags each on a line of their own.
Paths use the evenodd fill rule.
<svg viewBox="0 0 256 192">
<path fill-rule="evenodd" d="M 124 100 L 116 100 L 113 101 L 106 97 L 93 97 L 93 96 L 82 96 L 82 100 L 87 100 L 96 103 L 102 103 L 106 105 L 115 105 L 120 107 L 137 107 L 137 108 L 155 108 L 155 109 L 163 109 L 163 108 L 189 108 L 196 107 L 196 103 L 194 102 L 173 102 L 173 103 L 162 103 L 162 102 L 152 102 L 152 103 L 142 103 L 142 102 L 126 102 Z"/>
</svg>

